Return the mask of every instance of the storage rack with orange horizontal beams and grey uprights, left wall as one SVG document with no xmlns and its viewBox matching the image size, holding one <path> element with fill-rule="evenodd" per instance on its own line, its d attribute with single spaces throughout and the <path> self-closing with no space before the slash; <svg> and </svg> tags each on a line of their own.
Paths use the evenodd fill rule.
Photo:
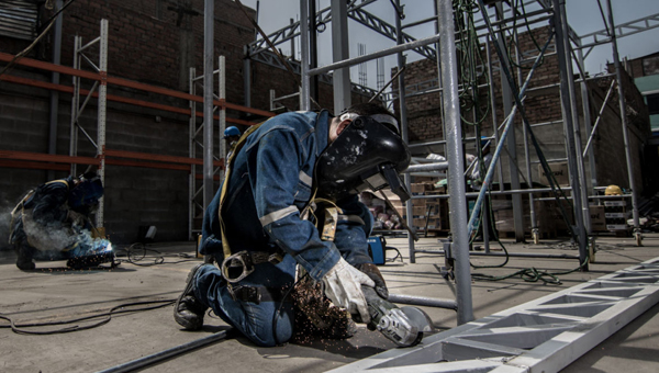
<svg viewBox="0 0 659 373">
<path fill-rule="evenodd" d="M 1 81 L 7 81 L 11 83 L 35 87 L 41 89 L 47 89 L 55 92 L 70 93 L 71 94 L 71 127 L 69 134 L 69 155 L 54 155 L 54 154 L 38 154 L 38 152 L 30 152 L 30 151 L 19 151 L 19 150 L 0 150 L 0 167 L 9 167 L 9 168 L 27 168 L 27 169 L 42 169 L 42 170 L 53 170 L 53 171 L 68 171 L 71 174 L 76 174 L 76 165 L 86 165 L 86 166 L 94 166 L 99 169 L 99 174 L 102 178 L 104 183 L 104 169 L 107 166 L 126 166 L 126 167 L 143 167 L 143 168 L 153 168 L 153 169 L 167 169 L 167 170 L 179 170 L 179 171 L 188 171 L 190 174 L 189 179 L 189 188 L 190 195 L 193 193 L 199 193 L 199 191 L 194 191 L 193 182 L 197 179 L 203 178 L 196 173 L 197 167 L 204 167 L 205 160 L 194 157 L 178 157 L 178 156 L 169 156 L 169 155 L 156 155 L 156 154 L 146 154 L 146 152 L 136 152 L 136 151 L 126 151 L 126 150 L 114 150 L 108 148 L 105 146 L 105 127 L 107 127 L 107 104 L 108 101 L 124 103 L 141 108 L 148 108 L 154 110 L 161 110 L 165 112 L 176 113 L 176 114 L 185 114 L 191 115 L 190 122 L 193 118 L 204 117 L 204 113 L 200 113 L 197 110 L 193 110 L 193 105 L 203 104 L 204 98 L 199 97 L 191 93 L 185 93 L 167 88 L 139 83 L 136 81 L 111 77 L 107 74 L 108 71 L 108 20 L 101 20 L 100 27 L 100 36 L 90 41 L 89 43 L 82 45 L 82 38 L 76 36 L 75 38 L 75 56 L 74 56 L 74 67 L 66 67 L 60 65 L 55 65 L 51 63 L 34 60 L 31 58 L 21 58 L 14 60 L 14 56 L 1 53 L 0 52 L 0 61 L 2 63 L 15 63 L 20 66 L 25 66 L 30 68 L 35 68 L 38 70 L 52 71 L 56 74 L 68 75 L 72 77 L 74 84 L 72 87 L 64 86 L 59 83 L 53 82 L 44 82 L 40 80 L 29 79 L 16 77 L 12 75 L 2 75 L 0 76 Z M 93 63 L 91 58 L 83 54 L 90 47 L 99 46 L 99 63 Z M 227 118 L 226 110 L 233 110 L 238 112 L 250 113 L 255 115 L 260 115 L 265 117 L 273 116 L 275 114 L 268 111 L 263 111 L 258 109 L 247 108 L 234 103 L 230 103 L 226 101 L 225 93 L 225 83 L 224 83 L 224 57 L 220 57 L 221 67 L 219 70 L 213 71 L 214 74 L 221 74 L 222 78 L 220 79 L 220 97 L 212 97 L 211 104 L 220 110 L 219 115 L 212 115 L 213 120 L 219 120 L 220 123 L 235 123 L 239 125 L 253 125 L 254 123 L 248 121 L 243 121 L 238 118 Z M 91 66 L 92 71 L 82 70 L 80 67 L 82 61 L 87 63 Z M 90 89 L 83 89 L 81 79 L 92 81 L 92 87 Z M 109 84 L 113 84 L 116 87 L 126 87 L 144 92 L 150 92 L 160 94 L 164 97 L 171 97 L 177 99 L 187 100 L 190 102 L 188 109 L 177 108 L 166 104 L 146 102 L 143 100 L 130 99 L 125 97 L 109 94 L 107 89 Z M 211 88 L 212 89 L 212 88 Z M 81 97 L 85 97 L 81 100 Z M 97 142 L 82 128 L 78 125 L 77 118 L 80 116 L 82 111 L 87 108 L 88 103 L 91 102 L 92 99 L 98 100 L 98 112 L 97 112 Z M 224 124 L 222 124 L 224 125 Z M 222 127 L 223 128 L 223 127 Z M 92 146 L 97 148 L 97 154 L 94 157 L 80 157 L 77 155 L 78 152 L 78 132 L 81 132 L 87 140 L 89 140 Z M 53 134 L 53 132 L 51 132 Z M 212 140 L 212 139 L 211 139 Z M 191 139 L 192 142 L 192 139 Z M 220 149 L 222 151 L 222 142 L 220 144 Z M 216 173 L 217 170 L 223 169 L 224 162 L 220 157 L 217 159 L 213 159 L 211 161 L 211 167 L 213 167 L 213 173 Z M 217 180 L 217 178 L 214 178 Z M 194 191 L 194 192 L 193 192 Z M 203 191 L 203 188 L 202 188 Z M 211 190 L 212 191 L 212 190 Z M 213 192 L 213 191 L 212 191 Z M 192 207 L 189 206 L 191 211 Z M 103 225 L 103 200 L 100 202 L 99 213 L 97 213 L 96 224 L 97 226 Z M 190 221 L 188 222 L 188 235 L 189 239 L 192 239 L 192 214 L 190 213 Z"/>
</svg>

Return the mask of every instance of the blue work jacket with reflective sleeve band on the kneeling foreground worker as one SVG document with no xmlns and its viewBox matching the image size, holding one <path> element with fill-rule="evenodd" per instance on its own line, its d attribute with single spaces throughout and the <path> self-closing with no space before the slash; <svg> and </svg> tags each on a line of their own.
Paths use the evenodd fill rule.
<svg viewBox="0 0 659 373">
<path fill-rule="evenodd" d="M 338 201 L 334 241 L 300 215 L 312 197 L 315 162 L 328 144 L 327 111 L 275 116 L 247 137 L 236 155 L 222 207 L 225 236 L 233 253 L 273 251 L 292 256 L 316 281 L 343 256 L 350 264 L 372 262 L 367 237 L 372 215 L 357 195 Z M 223 258 L 219 204 L 222 188 L 203 219 L 200 252 Z"/>
</svg>

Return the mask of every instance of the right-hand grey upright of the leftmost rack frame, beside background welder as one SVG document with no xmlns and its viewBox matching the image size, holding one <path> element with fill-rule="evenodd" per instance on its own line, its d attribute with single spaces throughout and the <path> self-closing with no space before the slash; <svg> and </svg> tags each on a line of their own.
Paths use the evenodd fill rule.
<svg viewBox="0 0 659 373">
<path fill-rule="evenodd" d="M 99 166 L 99 177 L 103 185 L 105 184 L 105 117 L 108 109 L 108 20 L 101 20 L 101 39 L 99 48 L 99 74 L 101 83 L 99 86 L 99 110 L 98 110 L 98 157 L 101 159 Z M 96 214 L 97 227 L 103 226 L 104 197 L 99 201 L 99 210 Z"/>
</svg>

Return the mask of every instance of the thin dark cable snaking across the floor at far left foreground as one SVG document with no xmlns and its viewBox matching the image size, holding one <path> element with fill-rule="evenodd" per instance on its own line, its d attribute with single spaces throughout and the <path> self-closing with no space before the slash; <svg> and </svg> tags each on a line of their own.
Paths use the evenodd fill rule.
<svg viewBox="0 0 659 373">
<path fill-rule="evenodd" d="M 9 321 L 9 325 L 0 325 L 0 328 L 11 328 L 11 330 L 13 332 L 19 334 L 19 335 L 37 335 L 37 336 L 57 335 L 57 334 L 64 334 L 64 332 L 80 331 L 80 330 L 92 329 L 92 328 L 96 328 L 96 327 L 99 327 L 101 325 L 105 325 L 105 324 L 110 323 L 110 320 L 112 319 L 112 315 L 157 309 L 157 308 L 161 308 L 161 307 L 166 307 L 166 306 L 172 305 L 175 302 L 176 302 L 176 299 L 145 301 L 145 302 L 124 303 L 124 304 L 120 304 L 118 306 L 112 307 L 107 313 L 101 313 L 101 314 L 91 315 L 91 316 L 78 317 L 78 318 L 74 318 L 74 319 L 69 319 L 69 320 L 48 321 L 48 323 L 16 324 L 11 317 L 0 314 L 0 319 L 4 319 L 4 320 Z M 126 307 L 148 305 L 148 304 L 158 304 L 158 303 L 159 303 L 159 305 L 149 306 L 149 307 L 133 308 L 133 309 L 123 309 L 123 308 L 126 308 Z M 79 321 L 86 321 L 86 320 L 91 320 L 91 319 L 96 319 L 96 318 L 100 318 L 100 317 L 103 317 L 103 319 L 97 321 L 96 324 L 86 325 L 86 326 L 74 325 L 74 326 L 62 328 L 62 329 L 47 330 L 47 331 L 32 331 L 32 330 L 26 330 L 25 329 L 25 328 L 34 328 L 34 327 L 46 327 L 46 326 L 56 326 L 56 325 L 69 325 L 69 324 L 79 323 Z"/>
</svg>

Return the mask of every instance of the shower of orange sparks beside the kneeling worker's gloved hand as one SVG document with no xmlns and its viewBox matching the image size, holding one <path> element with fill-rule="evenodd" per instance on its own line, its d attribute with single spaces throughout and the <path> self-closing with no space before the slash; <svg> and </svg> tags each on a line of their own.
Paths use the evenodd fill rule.
<svg viewBox="0 0 659 373">
<path fill-rule="evenodd" d="M 297 338 L 308 335 L 330 339 L 347 339 L 357 332 L 350 314 L 330 301 L 321 283 L 306 276 L 298 282 L 292 293 Z"/>
</svg>

